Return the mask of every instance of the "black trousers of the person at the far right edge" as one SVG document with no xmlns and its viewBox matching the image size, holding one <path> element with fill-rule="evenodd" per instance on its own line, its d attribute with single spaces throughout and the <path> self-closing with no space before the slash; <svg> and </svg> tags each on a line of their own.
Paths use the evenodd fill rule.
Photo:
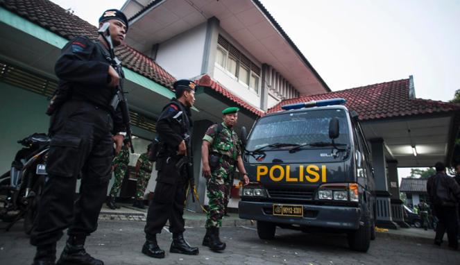
<svg viewBox="0 0 460 265">
<path fill-rule="evenodd" d="M 434 205 L 434 214 L 438 218 L 438 225 L 436 225 L 435 241 L 443 241 L 444 233 L 448 232 L 449 246 L 458 248 L 459 241 L 457 239 L 457 207 L 448 207 L 441 205 Z"/>
</svg>

